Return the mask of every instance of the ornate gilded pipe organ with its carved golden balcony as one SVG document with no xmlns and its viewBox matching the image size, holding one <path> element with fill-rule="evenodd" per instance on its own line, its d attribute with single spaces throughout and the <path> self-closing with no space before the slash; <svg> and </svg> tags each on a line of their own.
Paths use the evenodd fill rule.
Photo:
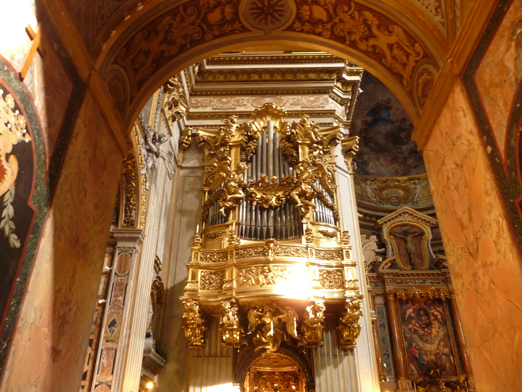
<svg viewBox="0 0 522 392">
<path fill-rule="evenodd" d="M 181 298 L 189 346 L 202 347 L 206 320 L 219 316 L 224 346 L 308 349 L 322 344 L 325 317 L 335 317 L 339 349 L 351 349 L 362 296 L 340 229 L 334 150 L 342 133 L 306 115 L 289 123 L 273 104 L 253 116 L 192 130 L 205 162 Z"/>
</svg>

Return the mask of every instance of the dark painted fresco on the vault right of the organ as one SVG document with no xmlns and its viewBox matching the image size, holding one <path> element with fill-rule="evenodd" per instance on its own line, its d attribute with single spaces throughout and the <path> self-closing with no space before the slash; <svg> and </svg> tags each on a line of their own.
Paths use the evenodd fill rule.
<svg viewBox="0 0 522 392">
<path fill-rule="evenodd" d="M 375 76 L 364 73 L 350 135 L 360 138 L 356 173 L 399 177 L 426 172 L 422 154 L 411 140 L 413 125 L 393 93 Z"/>
</svg>

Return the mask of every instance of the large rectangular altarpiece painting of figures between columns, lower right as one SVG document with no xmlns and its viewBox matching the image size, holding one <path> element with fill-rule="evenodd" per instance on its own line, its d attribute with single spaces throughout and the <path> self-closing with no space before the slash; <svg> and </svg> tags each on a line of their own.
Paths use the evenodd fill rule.
<svg viewBox="0 0 522 392">
<path fill-rule="evenodd" d="M 443 300 L 398 301 L 410 378 L 458 376 Z"/>
</svg>

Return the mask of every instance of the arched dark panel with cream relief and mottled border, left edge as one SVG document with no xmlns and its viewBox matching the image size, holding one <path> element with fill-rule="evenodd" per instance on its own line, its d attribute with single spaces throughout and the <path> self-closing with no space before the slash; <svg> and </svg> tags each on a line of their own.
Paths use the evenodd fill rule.
<svg viewBox="0 0 522 392">
<path fill-rule="evenodd" d="M 18 75 L 0 62 L 0 368 L 41 230 L 47 193 L 36 184 L 44 172 L 35 107 Z"/>
</svg>

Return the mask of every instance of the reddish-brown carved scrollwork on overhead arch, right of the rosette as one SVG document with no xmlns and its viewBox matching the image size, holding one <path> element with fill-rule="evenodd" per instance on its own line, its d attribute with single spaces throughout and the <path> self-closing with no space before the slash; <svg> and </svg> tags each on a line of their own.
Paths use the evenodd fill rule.
<svg viewBox="0 0 522 392">
<path fill-rule="evenodd" d="M 408 91 L 413 69 L 424 57 L 422 47 L 400 26 L 382 24 L 370 9 L 353 1 L 297 1 L 297 18 L 291 28 L 323 38 L 341 38 L 397 74 Z"/>
</svg>

